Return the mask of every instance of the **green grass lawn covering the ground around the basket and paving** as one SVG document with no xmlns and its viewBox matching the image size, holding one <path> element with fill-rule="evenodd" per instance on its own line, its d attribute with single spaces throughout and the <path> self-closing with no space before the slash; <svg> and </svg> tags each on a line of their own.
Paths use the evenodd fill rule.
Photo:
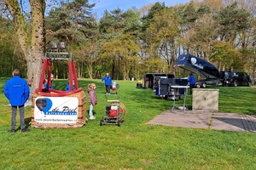
<svg viewBox="0 0 256 170">
<path fill-rule="evenodd" d="M 2 92 L 6 80 L 0 80 Z M 66 82 L 55 80 L 55 88 L 64 89 Z M 99 80 L 79 80 L 79 87 L 86 91 L 90 82 L 97 87 L 96 120 L 75 129 L 29 127 L 30 133 L 8 133 L 10 106 L 0 94 L 0 169 L 256 169 L 255 133 L 145 124 L 172 108 L 172 101 L 136 88 L 136 82 L 118 81 L 127 109 L 121 127 L 99 126 L 105 88 Z M 187 101 L 191 108 L 191 96 Z M 220 87 L 219 111 L 256 115 L 256 88 Z M 27 123 L 30 116 L 28 107 Z"/>
</svg>

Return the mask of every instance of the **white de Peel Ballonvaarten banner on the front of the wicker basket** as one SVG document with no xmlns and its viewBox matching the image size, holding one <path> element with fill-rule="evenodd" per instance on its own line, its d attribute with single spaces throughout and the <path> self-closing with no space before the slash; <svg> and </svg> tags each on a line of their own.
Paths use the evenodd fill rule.
<svg viewBox="0 0 256 170">
<path fill-rule="evenodd" d="M 34 120 L 41 123 L 76 123 L 78 105 L 76 97 L 37 97 Z"/>
</svg>

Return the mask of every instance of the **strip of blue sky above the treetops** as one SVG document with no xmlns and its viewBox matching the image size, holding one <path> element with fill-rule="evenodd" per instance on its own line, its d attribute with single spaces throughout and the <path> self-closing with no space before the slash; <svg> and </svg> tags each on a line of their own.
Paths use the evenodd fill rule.
<svg viewBox="0 0 256 170">
<path fill-rule="evenodd" d="M 108 9 L 108 11 L 121 8 L 127 10 L 131 7 L 142 8 L 144 5 L 150 3 L 165 3 L 167 7 L 174 6 L 180 3 L 188 3 L 190 0 L 89 0 L 89 3 L 96 3 L 93 8 L 93 13 L 96 13 L 98 17 L 102 17 L 103 12 Z"/>
</svg>

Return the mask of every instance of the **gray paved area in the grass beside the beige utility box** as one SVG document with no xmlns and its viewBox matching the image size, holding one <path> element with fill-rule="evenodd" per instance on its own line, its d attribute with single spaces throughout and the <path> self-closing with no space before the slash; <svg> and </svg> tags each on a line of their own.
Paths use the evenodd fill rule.
<svg viewBox="0 0 256 170">
<path fill-rule="evenodd" d="M 147 124 L 256 133 L 256 116 L 212 111 L 164 111 Z"/>
</svg>

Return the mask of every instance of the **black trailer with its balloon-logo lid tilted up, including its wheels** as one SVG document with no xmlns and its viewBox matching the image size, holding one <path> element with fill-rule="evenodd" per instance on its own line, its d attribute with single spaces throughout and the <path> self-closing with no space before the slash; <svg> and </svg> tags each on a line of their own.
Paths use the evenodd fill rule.
<svg viewBox="0 0 256 170">
<path fill-rule="evenodd" d="M 207 84 L 220 85 L 218 68 L 205 59 L 195 57 L 191 54 L 182 54 L 178 57 L 174 66 L 179 66 L 186 71 L 191 71 L 204 80 L 195 82 L 196 88 L 206 88 Z"/>
</svg>

